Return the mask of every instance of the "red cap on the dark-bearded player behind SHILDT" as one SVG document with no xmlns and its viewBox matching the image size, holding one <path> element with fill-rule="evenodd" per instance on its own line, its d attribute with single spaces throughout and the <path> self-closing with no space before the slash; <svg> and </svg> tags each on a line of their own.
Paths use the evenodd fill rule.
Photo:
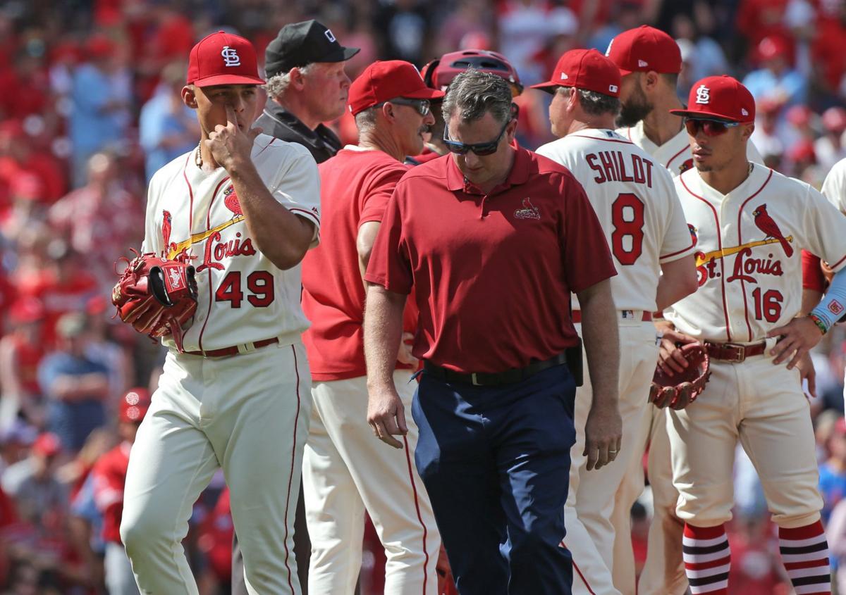
<svg viewBox="0 0 846 595">
<path fill-rule="evenodd" d="M 682 52 L 678 43 L 662 30 L 649 25 L 640 25 L 614 37 L 605 55 L 617 64 L 623 76 L 650 70 L 662 74 L 682 71 Z"/>
</svg>

